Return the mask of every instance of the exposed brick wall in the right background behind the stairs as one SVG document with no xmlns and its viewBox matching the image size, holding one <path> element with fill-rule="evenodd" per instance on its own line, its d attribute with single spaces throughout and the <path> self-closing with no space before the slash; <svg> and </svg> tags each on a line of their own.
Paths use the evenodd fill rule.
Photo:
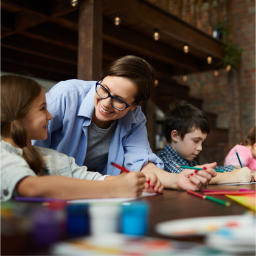
<svg viewBox="0 0 256 256">
<path fill-rule="evenodd" d="M 230 13 L 234 42 L 243 47 L 240 69 L 241 95 L 233 96 L 236 104 L 238 96 L 241 100 L 241 137 L 245 139 L 250 128 L 256 125 L 256 0 L 233 0 Z M 177 79 L 182 83 L 181 77 Z M 218 114 L 218 127 L 230 128 L 232 88 L 228 87 L 225 69 L 219 71 L 218 77 L 213 76 L 213 71 L 191 74 L 185 85 L 190 86 L 192 97 L 204 100 L 204 111 Z"/>
</svg>

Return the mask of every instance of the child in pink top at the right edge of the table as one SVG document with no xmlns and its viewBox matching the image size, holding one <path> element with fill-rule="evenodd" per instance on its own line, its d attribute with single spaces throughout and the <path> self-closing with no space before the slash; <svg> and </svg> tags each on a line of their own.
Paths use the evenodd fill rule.
<svg viewBox="0 0 256 256">
<path fill-rule="evenodd" d="M 240 156 L 243 167 L 248 167 L 251 170 L 256 170 L 256 126 L 252 128 L 247 136 L 247 139 L 241 145 L 235 145 L 227 154 L 224 166 L 235 165 L 240 167 L 240 163 L 235 154 L 235 148 Z"/>
</svg>

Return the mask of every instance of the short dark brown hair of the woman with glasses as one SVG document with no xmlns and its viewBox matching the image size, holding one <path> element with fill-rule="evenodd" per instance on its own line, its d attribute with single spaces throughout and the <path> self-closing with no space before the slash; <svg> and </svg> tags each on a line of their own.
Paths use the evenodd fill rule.
<svg viewBox="0 0 256 256">
<path fill-rule="evenodd" d="M 101 75 L 100 80 L 111 76 L 125 77 L 132 81 L 138 89 L 135 97 L 138 103 L 144 103 L 150 98 L 156 79 L 154 68 L 143 58 L 133 55 L 121 57 L 112 62 L 102 71 Z"/>
</svg>

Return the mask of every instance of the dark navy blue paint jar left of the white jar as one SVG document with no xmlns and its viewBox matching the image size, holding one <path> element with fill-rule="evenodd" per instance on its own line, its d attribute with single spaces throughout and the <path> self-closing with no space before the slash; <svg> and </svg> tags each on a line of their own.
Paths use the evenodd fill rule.
<svg viewBox="0 0 256 256">
<path fill-rule="evenodd" d="M 72 237 L 89 234 L 88 206 L 67 206 L 67 234 Z"/>
</svg>

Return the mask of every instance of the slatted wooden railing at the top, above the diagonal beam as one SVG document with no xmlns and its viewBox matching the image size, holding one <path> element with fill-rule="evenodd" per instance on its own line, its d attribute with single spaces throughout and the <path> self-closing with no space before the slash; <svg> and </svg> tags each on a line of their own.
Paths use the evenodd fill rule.
<svg viewBox="0 0 256 256">
<path fill-rule="evenodd" d="M 230 0 L 145 0 L 165 12 L 212 35 L 218 22 L 227 19 Z"/>
</svg>

